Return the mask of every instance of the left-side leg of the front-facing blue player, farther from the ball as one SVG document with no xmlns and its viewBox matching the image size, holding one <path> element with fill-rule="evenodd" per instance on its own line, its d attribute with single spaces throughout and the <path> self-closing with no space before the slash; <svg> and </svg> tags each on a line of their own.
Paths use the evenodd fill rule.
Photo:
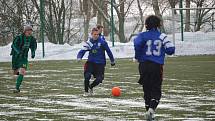
<svg viewBox="0 0 215 121">
<path fill-rule="evenodd" d="M 88 93 L 89 81 L 91 79 L 93 65 L 90 62 L 86 62 L 84 65 L 84 91 Z"/>
</svg>

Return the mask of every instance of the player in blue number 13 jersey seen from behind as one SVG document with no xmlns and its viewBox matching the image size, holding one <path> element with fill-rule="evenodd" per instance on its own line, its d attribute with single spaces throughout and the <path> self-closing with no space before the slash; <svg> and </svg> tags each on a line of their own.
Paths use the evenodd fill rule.
<svg viewBox="0 0 215 121">
<path fill-rule="evenodd" d="M 146 119 L 153 121 L 161 98 L 165 54 L 175 53 L 173 43 L 160 32 L 161 19 L 150 15 L 145 20 L 147 31 L 134 40 L 135 59 L 139 62 L 139 84 L 143 86 Z"/>
</svg>

